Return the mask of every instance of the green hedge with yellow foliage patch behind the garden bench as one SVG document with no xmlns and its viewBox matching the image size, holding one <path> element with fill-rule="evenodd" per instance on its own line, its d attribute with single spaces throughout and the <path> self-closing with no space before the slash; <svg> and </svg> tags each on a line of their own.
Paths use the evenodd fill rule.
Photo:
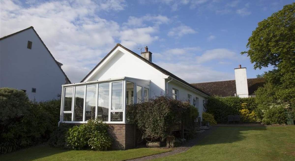
<svg viewBox="0 0 295 161">
<path fill-rule="evenodd" d="M 217 123 L 227 123 L 228 115 L 242 115 L 244 122 L 256 122 L 257 104 L 255 98 L 209 97 L 207 112 L 213 114 Z M 250 117 L 254 114 L 253 117 Z M 254 120 L 253 120 L 254 118 Z"/>
</svg>

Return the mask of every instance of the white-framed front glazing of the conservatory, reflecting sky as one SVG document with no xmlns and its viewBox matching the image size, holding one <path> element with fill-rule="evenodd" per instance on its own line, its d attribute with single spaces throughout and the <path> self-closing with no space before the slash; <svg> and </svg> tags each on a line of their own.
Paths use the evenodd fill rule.
<svg viewBox="0 0 295 161">
<path fill-rule="evenodd" d="M 65 87 L 63 93 L 63 121 L 123 121 L 123 81 Z"/>
</svg>

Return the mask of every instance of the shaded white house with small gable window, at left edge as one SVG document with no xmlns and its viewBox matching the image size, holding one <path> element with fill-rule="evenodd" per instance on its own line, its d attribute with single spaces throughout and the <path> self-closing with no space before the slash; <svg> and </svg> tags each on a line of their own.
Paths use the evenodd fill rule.
<svg viewBox="0 0 295 161">
<path fill-rule="evenodd" d="M 0 38 L 0 88 L 27 93 L 31 100 L 47 101 L 71 83 L 33 27 Z"/>
</svg>

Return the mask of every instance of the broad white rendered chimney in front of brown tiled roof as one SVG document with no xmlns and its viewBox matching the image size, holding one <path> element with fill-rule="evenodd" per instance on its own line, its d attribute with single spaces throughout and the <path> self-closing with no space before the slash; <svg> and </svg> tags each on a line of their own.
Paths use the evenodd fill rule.
<svg viewBox="0 0 295 161">
<path fill-rule="evenodd" d="M 246 68 L 235 68 L 236 90 L 238 97 L 249 97 Z"/>
</svg>

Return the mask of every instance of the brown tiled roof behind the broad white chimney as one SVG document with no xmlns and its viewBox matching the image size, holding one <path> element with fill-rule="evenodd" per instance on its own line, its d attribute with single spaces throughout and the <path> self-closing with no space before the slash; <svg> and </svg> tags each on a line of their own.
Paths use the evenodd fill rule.
<svg viewBox="0 0 295 161">
<path fill-rule="evenodd" d="M 248 81 L 248 92 L 249 96 L 254 96 L 255 91 L 258 87 L 262 87 L 265 84 L 264 78 L 249 78 Z M 228 97 L 235 96 L 237 93 L 236 90 L 236 81 L 235 80 L 225 80 L 217 82 L 205 82 L 205 83 L 192 83 L 196 88 L 209 93 L 214 96 Z"/>
</svg>

